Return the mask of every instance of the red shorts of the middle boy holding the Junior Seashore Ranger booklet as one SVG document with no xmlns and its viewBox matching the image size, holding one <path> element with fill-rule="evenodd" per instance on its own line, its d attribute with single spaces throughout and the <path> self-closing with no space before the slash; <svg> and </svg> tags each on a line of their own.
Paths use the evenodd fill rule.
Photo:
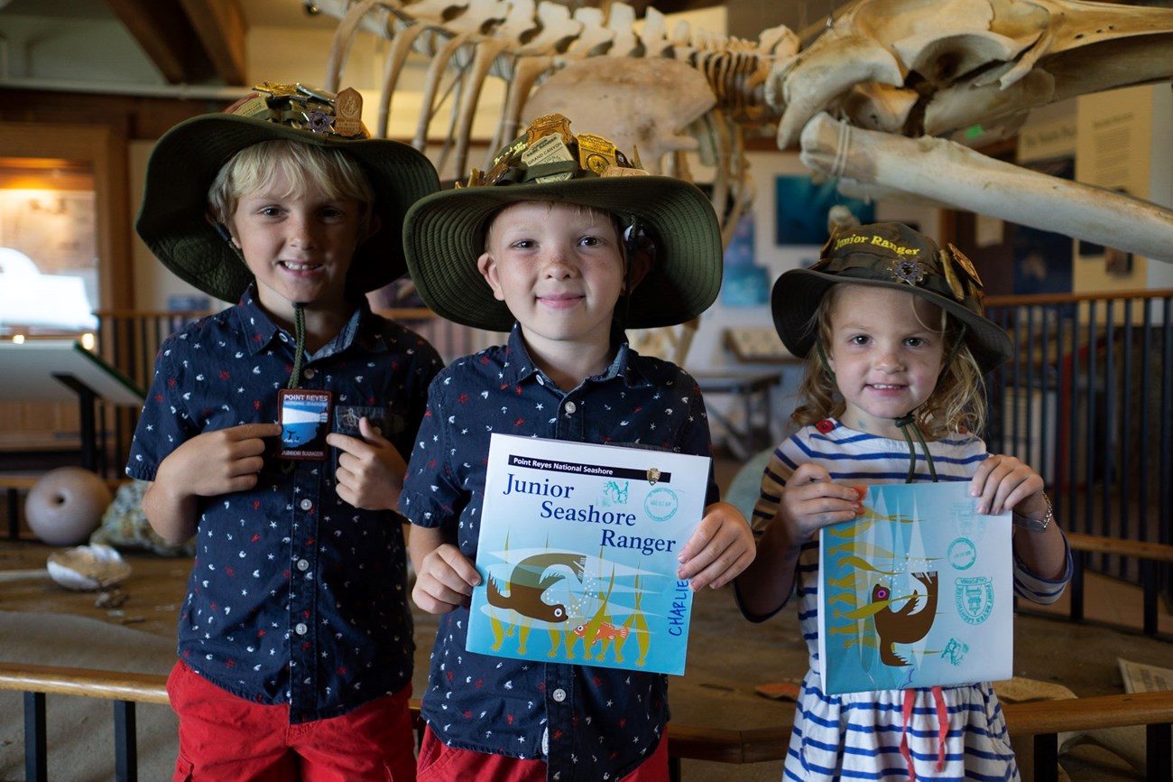
<svg viewBox="0 0 1173 782">
<path fill-rule="evenodd" d="M 504 755 L 487 755 L 449 747 L 435 737 L 430 728 L 423 729 L 420 742 L 418 782 L 545 782 L 545 761 L 521 760 Z M 619 782 L 669 782 L 667 736 L 656 744 L 651 754 L 635 771 Z"/>
</svg>

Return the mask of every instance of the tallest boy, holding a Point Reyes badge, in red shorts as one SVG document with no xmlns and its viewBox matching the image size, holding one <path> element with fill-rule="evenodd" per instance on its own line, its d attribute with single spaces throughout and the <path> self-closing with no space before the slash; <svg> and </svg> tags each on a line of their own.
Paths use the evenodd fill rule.
<svg viewBox="0 0 1173 782">
<path fill-rule="evenodd" d="M 140 236 L 235 303 L 161 346 L 127 466 L 151 526 L 196 535 L 176 780 L 414 780 L 394 508 L 441 362 L 365 294 L 404 274 L 404 214 L 439 180 L 360 109 L 265 83 L 148 163 Z"/>
</svg>

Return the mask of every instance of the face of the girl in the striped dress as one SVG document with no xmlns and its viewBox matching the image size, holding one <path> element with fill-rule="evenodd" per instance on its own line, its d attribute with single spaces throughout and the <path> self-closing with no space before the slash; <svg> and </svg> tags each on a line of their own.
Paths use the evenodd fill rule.
<svg viewBox="0 0 1173 782">
<path fill-rule="evenodd" d="M 827 363 L 843 395 L 843 424 L 900 439 L 893 419 L 931 396 L 944 359 L 941 310 L 910 292 L 839 284 Z"/>
</svg>

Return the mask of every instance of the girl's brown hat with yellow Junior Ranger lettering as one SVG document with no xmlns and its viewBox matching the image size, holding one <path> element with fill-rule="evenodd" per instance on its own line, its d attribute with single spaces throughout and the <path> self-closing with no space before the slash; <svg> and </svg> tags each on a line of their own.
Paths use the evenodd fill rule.
<svg viewBox="0 0 1173 782">
<path fill-rule="evenodd" d="M 944 249 L 902 223 L 873 223 L 839 231 L 809 269 L 792 269 L 774 283 L 769 309 L 786 349 L 805 358 L 814 345 L 814 316 L 835 283 L 895 288 L 936 304 L 965 326 L 965 341 L 982 372 L 1008 360 L 1010 337 L 985 317 L 982 279 L 952 244 Z"/>
</svg>

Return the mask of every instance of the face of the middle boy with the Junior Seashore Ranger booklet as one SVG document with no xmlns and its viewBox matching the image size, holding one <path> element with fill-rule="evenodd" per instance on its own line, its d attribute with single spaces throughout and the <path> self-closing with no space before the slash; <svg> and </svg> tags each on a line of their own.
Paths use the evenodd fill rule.
<svg viewBox="0 0 1173 782">
<path fill-rule="evenodd" d="M 610 349 L 624 259 L 606 213 L 524 202 L 494 217 L 479 268 L 531 350 Z"/>
</svg>

